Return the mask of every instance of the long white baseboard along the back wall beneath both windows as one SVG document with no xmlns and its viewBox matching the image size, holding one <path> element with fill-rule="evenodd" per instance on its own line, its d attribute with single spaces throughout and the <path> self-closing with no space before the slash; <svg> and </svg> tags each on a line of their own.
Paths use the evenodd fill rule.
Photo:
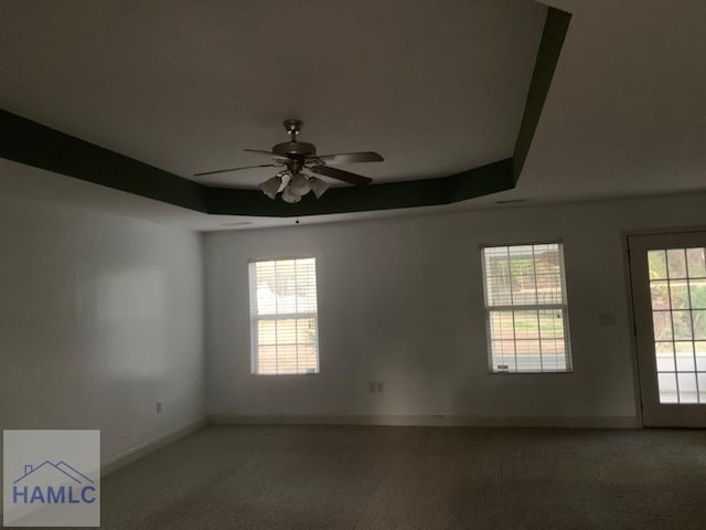
<svg viewBox="0 0 706 530">
<path fill-rule="evenodd" d="M 280 415 L 214 414 L 216 425 L 397 425 L 464 427 L 565 427 L 565 428 L 640 428 L 635 417 L 489 417 L 461 415 Z"/>
</svg>

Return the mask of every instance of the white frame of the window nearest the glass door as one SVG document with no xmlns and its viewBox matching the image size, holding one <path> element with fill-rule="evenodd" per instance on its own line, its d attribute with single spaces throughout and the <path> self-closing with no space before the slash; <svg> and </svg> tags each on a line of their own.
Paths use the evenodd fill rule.
<svg viewBox="0 0 706 530">
<path fill-rule="evenodd" d="M 513 246 L 536 246 L 536 245 L 558 245 L 560 256 L 560 277 L 561 277 L 561 295 L 563 304 L 522 304 L 522 305 L 503 305 L 503 306 L 490 306 L 488 303 L 488 276 L 485 267 L 485 250 L 499 248 L 499 247 L 513 247 Z M 532 240 L 532 241 L 513 241 L 507 243 L 482 243 L 479 245 L 481 255 L 481 269 L 483 282 L 483 310 L 485 312 L 485 341 L 488 348 L 488 370 L 492 375 L 544 375 L 544 374 L 570 374 L 574 373 L 574 358 L 571 356 L 571 339 L 569 333 L 569 311 L 568 311 L 568 292 L 567 292 L 567 278 L 566 278 L 566 261 L 564 256 L 564 241 L 556 240 Z M 536 275 L 536 262 L 533 259 L 533 267 Z M 498 370 L 493 362 L 493 341 L 491 331 L 491 315 L 492 312 L 507 312 L 513 316 L 513 342 L 516 343 L 516 329 L 514 324 L 514 317 L 516 311 L 542 311 L 542 310 L 560 310 L 561 324 L 564 331 L 564 356 L 566 368 L 564 370 L 518 370 L 515 363 L 515 370 Z M 516 354 L 516 353 L 515 353 Z"/>
</svg>

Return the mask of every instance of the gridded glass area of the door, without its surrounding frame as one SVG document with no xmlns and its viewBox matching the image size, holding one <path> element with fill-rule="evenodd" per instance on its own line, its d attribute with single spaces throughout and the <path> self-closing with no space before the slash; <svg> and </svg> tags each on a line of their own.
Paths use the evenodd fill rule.
<svg viewBox="0 0 706 530">
<path fill-rule="evenodd" d="M 705 254 L 648 252 L 660 403 L 706 404 Z"/>
</svg>

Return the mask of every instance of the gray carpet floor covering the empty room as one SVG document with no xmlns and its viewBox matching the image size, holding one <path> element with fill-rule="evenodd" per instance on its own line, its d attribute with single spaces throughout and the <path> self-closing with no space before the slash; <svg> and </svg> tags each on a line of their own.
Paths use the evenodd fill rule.
<svg viewBox="0 0 706 530">
<path fill-rule="evenodd" d="M 103 480 L 105 529 L 704 529 L 706 431 L 208 426 Z"/>
</svg>

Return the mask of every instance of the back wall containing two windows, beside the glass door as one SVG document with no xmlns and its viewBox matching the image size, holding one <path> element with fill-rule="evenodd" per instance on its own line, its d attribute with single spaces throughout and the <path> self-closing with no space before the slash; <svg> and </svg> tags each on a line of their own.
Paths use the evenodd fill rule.
<svg viewBox="0 0 706 530">
<path fill-rule="evenodd" d="M 706 226 L 705 211 L 706 195 L 684 195 L 210 233 L 208 414 L 630 423 L 621 232 Z M 565 243 L 575 372 L 491 375 L 479 245 L 546 239 Z M 247 261 L 292 254 L 317 257 L 321 373 L 252 375 Z M 601 314 L 617 325 L 600 326 Z M 371 380 L 384 391 L 370 393 Z"/>
</svg>

